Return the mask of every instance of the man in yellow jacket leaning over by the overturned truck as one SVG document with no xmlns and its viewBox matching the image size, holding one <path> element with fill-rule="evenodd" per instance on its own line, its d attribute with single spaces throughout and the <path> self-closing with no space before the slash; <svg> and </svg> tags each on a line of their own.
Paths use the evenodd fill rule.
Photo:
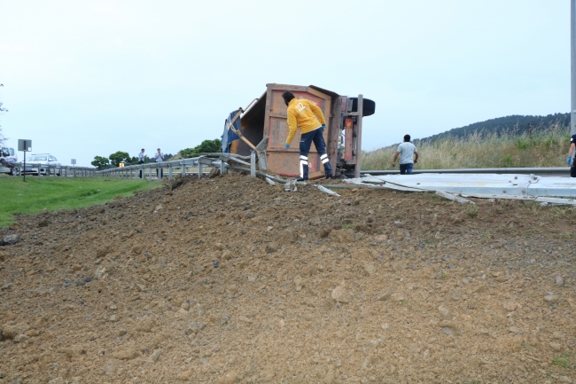
<svg viewBox="0 0 576 384">
<path fill-rule="evenodd" d="M 322 109 L 313 102 L 305 98 L 296 98 L 290 90 L 282 94 L 284 103 L 288 106 L 288 137 L 286 138 L 286 148 L 290 148 L 292 139 L 296 135 L 296 130 L 300 128 L 300 177 L 297 181 L 308 179 L 308 153 L 310 146 L 314 142 L 316 151 L 320 155 L 326 178 L 332 177 L 332 168 L 326 153 L 326 143 L 324 142 L 323 131 L 326 129 L 326 121 Z"/>
</svg>

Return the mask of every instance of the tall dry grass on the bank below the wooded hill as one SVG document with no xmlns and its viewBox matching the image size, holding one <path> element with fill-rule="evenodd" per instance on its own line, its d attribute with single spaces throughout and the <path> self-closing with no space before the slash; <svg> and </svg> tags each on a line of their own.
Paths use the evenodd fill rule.
<svg viewBox="0 0 576 384">
<path fill-rule="evenodd" d="M 550 126 L 529 133 L 473 133 L 414 142 L 420 155 L 416 169 L 567 167 L 570 127 Z M 398 145 L 362 152 L 362 169 L 393 169 Z M 398 169 L 398 164 L 396 164 Z"/>
</svg>

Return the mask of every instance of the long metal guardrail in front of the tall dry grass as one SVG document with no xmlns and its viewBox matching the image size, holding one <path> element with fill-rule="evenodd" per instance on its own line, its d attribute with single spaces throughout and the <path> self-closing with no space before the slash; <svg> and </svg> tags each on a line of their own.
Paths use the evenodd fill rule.
<svg viewBox="0 0 576 384">
<path fill-rule="evenodd" d="M 494 173 L 502 175 L 536 175 L 541 177 L 570 176 L 570 167 L 548 168 L 456 168 L 456 169 L 414 169 L 414 174 L 419 173 L 448 173 L 448 174 L 471 174 L 471 173 Z M 360 174 L 372 176 L 400 175 L 399 170 L 362 170 Z"/>
</svg>

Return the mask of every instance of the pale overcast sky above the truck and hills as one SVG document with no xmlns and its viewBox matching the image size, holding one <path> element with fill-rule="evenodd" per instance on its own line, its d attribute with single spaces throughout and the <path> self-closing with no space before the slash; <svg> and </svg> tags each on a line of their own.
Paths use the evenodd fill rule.
<svg viewBox="0 0 576 384">
<path fill-rule="evenodd" d="M 269 82 L 375 100 L 364 150 L 567 113 L 570 2 L 0 0 L 4 135 L 66 164 L 220 137 Z"/>
</svg>

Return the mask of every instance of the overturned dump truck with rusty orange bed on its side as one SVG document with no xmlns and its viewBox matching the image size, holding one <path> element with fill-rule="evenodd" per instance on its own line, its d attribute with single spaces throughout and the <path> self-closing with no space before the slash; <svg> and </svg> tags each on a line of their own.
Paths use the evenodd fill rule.
<svg viewBox="0 0 576 384">
<path fill-rule="evenodd" d="M 288 137 L 287 106 L 282 93 L 292 90 L 296 98 L 306 98 L 322 109 L 326 119 L 324 140 L 334 176 L 360 176 L 362 156 L 362 117 L 374 114 L 376 103 L 358 95 L 340 96 L 315 85 L 300 86 L 266 84 L 261 98 L 230 114 L 222 135 L 222 152 L 259 157 L 260 168 L 268 168 L 281 176 L 300 175 L 300 129 L 292 147 L 284 143 Z M 308 154 L 309 178 L 324 176 L 320 156 L 312 145 Z"/>
</svg>

